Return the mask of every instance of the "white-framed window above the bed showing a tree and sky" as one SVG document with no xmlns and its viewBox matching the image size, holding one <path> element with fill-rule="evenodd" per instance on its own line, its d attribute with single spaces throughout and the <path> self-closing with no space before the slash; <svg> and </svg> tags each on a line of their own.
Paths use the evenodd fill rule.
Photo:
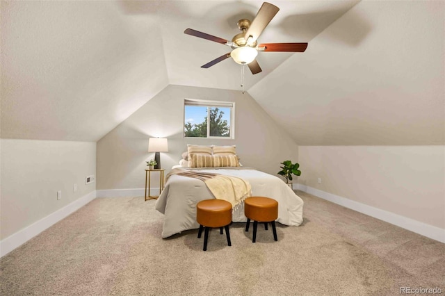
<svg viewBox="0 0 445 296">
<path fill-rule="evenodd" d="M 184 137 L 234 138 L 235 103 L 184 100 Z"/>
</svg>

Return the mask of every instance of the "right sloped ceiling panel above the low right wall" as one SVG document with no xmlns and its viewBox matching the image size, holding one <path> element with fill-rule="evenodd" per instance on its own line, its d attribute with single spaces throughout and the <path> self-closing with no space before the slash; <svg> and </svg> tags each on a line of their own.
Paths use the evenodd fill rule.
<svg viewBox="0 0 445 296">
<path fill-rule="evenodd" d="M 444 145 L 444 20 L 444 1 L 362 1 L 249 93 L 298 145 Z"/>
</svg>

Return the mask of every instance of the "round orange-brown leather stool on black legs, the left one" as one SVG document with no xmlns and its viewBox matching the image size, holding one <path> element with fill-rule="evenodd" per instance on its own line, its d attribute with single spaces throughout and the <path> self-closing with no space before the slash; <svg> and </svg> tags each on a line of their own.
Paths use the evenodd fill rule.
<svg viewBox="0 0 445 296">
<path fill-rule="evenodd" d="M 200 224 L 197 238 L 201 238 L 202 229 L 205 227 L 204 251 L 207 250 L 209 228 L 219 227 L 220 234 L 223 234 L 223 227 L 225 227 L 227 245 L 232 245 L 229 233 L 229 224 L 232 223 L 232 204 L 221 199 L 202 200 L 196 205 L 196 221 Z"/>
</svg>

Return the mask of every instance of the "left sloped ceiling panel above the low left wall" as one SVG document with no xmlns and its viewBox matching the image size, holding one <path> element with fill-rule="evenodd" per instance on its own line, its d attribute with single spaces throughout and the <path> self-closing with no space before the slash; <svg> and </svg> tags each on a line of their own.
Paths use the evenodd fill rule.
<svg viewBox="0 0 445 296">
<path fill-rule="evenodd" d="M 1 1 L 1 137 L 96 141 L 168 85 L 156 19 Z"/>
</svg>

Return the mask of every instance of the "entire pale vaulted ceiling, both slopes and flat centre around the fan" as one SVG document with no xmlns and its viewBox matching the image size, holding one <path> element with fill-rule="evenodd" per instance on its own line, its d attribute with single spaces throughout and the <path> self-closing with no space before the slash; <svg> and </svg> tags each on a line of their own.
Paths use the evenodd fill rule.
<svg viewBox="0 0 445 296">
<path fill-rule="evenodd" d="M 241 90 L 184 29 L 231 40 L 262 2 L 1 1 L 1 138 L 97 141 L 169 84 Z M 444 144 L 443 2 L 273 3 L 259 41 L 309 47 L 260 52 L 245 89 L 298 144 Z"/>
</svg>

